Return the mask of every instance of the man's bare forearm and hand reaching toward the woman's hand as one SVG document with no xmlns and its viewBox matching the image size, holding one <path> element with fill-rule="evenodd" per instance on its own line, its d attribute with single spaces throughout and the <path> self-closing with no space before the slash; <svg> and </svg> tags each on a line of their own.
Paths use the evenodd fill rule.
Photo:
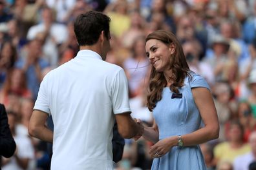
<svg viewBox="0 0 256 170">
<path fill-rule="evenodd" d="M 130 113 L 115 114 L 116 122 L 118 124 L 118 131 L 123 138 L 133 138 L 135 136 L 142 136 L 144 126 L 136 123 L 131 117 Z"/>
</svg>

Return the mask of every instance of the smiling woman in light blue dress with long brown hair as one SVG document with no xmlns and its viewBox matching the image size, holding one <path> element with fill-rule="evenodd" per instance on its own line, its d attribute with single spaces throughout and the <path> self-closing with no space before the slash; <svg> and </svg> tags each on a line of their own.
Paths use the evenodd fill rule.
<svg viewBox="0 0 256 170">
<path fill-rule="evenodd" d="M 146 38 L 152 70 L 147 106 L 153 127 L 143 137 L 154 143 L 151 169 L 206 169 L 198 144 L 219 137 L 219 122 L 206 81 L 189 70 L 180 42 L 173 33 L 158 30 Z M 204 126 L 200 127 L 201 120 Z"/>
</svg>

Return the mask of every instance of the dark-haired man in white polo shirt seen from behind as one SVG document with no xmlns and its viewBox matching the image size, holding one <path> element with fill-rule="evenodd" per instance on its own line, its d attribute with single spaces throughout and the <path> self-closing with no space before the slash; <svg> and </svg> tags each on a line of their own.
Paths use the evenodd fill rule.
<svg viewBox="0 0 256 170">
<path fill-rule="evenodd" d="M 53 142 L 51 169 L 113 169 L 114 118 L 124 138 L 142 135 L 131 118 L 128 87 L 120 66 L 105 62 L 110 50 L 110 18 L 100 12 L 77 17 L 80 52 L 50 71 L 41 82 L 28 131 Z M 52 115 L 54 132 L 45 127 Z"/>
</svg>

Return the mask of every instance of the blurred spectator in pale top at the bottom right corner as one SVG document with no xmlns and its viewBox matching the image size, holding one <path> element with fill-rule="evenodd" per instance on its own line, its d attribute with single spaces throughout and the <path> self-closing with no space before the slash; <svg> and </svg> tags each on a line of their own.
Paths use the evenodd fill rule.
<svg viewBox="0 0 256 170">
<path fill-rule="evenodd" d="M 234 170 L 248 170 L 251 162 L 256 160 L 256 131 L 253 131 L 249 137 L 251 151 L 244 155 L 237 156 L 234 160 Z"/>
</svg>

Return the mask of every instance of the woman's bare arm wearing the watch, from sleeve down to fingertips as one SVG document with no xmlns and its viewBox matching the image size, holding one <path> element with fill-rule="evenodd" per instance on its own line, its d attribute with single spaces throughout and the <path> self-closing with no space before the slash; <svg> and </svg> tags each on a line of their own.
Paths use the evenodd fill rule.
<svg viewBox="0 0 256 170">
<path fill-rule="evenodd" d="M 182 135 L 184 146 L 195 146 L 219 137 L 219 120 L 210 91 L 206 88 L 193 88 L 192 93 L 205 126 L 193 133 Z M 157 158 L 165 155 L 173 146 L 178 146 L 178 136 L 159 140 L 151 147 L 149 155 Z"/>
</svg>

